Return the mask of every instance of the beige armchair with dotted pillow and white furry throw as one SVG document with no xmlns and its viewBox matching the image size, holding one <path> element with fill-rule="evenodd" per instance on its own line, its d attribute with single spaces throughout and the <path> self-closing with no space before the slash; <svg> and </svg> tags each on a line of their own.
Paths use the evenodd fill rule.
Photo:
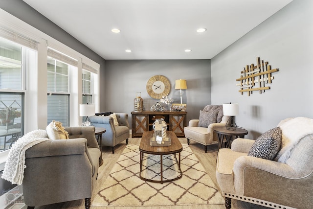
<svg viewBox="0 0 313 209">
<path fill-rule="evenodd" d="M 256 140 L 220 149 L 216 179 L 226 209 L 237 199 L 274 209 L 313 207 L 313 119 L 282 120 Z"/>
</svg>

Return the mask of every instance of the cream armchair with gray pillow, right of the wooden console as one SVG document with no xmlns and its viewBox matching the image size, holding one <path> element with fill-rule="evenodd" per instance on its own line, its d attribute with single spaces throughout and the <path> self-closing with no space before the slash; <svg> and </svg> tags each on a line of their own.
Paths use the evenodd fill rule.
<svg viewBox="0 0 313 209">
<path fill-rule="evenodd" d="M 199 119 L 192 119 L 188 126 L 184 127 L 185 138 L 204 145 L 207 152 L 207 145 L 218 143 L 218 135 L 214 127 L 225 126 L 229 116 L 223 115 L 223 105 L 207 105 L 200 111 Z"/>
</svg>

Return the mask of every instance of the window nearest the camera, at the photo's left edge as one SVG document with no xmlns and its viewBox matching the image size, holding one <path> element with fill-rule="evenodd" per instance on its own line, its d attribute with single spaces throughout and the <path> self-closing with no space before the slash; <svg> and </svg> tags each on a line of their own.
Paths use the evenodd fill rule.
<svg viewBox="0 0 313 209">
<path fill-rule="evenodd" d="M 0 38 L 0 152 L 24 132 L 25 54 L 25 47 Z"/>
</svg>

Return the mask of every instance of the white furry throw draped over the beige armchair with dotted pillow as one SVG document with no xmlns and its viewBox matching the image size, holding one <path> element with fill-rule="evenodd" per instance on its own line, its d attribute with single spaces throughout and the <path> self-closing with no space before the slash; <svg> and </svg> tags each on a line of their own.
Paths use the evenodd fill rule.
<svg viewBox="0 0 313 209">
<path fill-rule="evenodd" d="M 299 141 L 309 135 L 313 134 L 313 119 L 308 117 L 294 117 L 282 120 L 278 126 L 282 129 L 282 145 L 275 160 L 285 163 L 291 155 L 293 148 Z"/>
</svg>

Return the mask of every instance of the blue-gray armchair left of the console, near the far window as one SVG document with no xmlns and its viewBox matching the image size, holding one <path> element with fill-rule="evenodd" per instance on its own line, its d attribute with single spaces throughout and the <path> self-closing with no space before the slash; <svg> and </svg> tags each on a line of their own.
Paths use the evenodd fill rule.
<svg viewBox="0 0 313 209">
<path fill-rule="evenodd" d="M 128 122 L 128 114 L 115 113 L 118 126 L 114 126 L 112 116 L 89 116 L 90 121 L 95 127 L 105 128 L 106 132 L 102 134 L 102 146 L 112 147 L 114 154 L 114 146 L 126 140 L 128 144 L 130 125 Z"/>
</svg>

